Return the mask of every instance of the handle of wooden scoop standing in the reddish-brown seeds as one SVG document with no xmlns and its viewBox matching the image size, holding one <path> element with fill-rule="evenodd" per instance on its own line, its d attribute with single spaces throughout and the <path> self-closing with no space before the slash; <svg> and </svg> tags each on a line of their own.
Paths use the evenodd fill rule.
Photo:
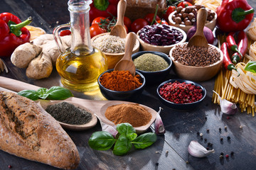
<svg viewBox="0 0 256 170">
<path fill-rule="evenodd" d="M 196 35 L 203 34 L 203 28 L 206 25 L 207 11 L 206 8 L 199 9 L 196 17 Z"/>
</svg>

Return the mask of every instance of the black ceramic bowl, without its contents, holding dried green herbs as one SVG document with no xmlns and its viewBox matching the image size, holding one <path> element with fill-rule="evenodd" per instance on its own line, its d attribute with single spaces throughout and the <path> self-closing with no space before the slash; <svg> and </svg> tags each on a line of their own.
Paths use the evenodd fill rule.
<svg viewBox="0 0 256 170">
<path fill-rule="evenodd" d="M 170 73 L 172 61 L 171 58 L 168 57 L 168 55 L 164 54 L 163 52 L 154 52 L 154 51 L 142 51 L 142 52 L 136 52 L 132 55 L 132 60 L 135 60 L 137 57 L 145 54 L 145 53 L 152 53 L 154 55 L 159 55 L 160 57 L 163 57 L 164 60 L 169 64 L 169 67 L 166 69 L 163 69 L 158 72 L 146 72 L 139 69 L 136 69 L 138 72 L 142 73 L 146 79 L 146 84 L 154 84 L 159 81 L 163 81 L 163 79 Z"/>
</svg>

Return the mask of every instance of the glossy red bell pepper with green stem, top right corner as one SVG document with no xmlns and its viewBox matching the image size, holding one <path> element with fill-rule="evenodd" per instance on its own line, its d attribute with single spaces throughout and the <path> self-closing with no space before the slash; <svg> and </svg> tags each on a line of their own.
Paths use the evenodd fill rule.
<svg viewBox="0 0 256 170">
<path fill-rule="evenodd" d="M 220 30 L 236 32 L 247 28 L 252 21 L 254 9 L 246 0 L 223 0 L 216 13 Z"/>
</svg>

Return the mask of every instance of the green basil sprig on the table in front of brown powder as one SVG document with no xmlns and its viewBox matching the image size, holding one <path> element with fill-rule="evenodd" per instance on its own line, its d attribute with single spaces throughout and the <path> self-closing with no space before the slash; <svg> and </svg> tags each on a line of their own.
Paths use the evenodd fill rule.
<svg viewBox="0 0 256 170">
<path fill-rule="evenodd" d="M 90 137 L 88 144 L 92 149 L 107 150 L 113 147 L 113 154 L 122 155 L 127 154 L 132 145 L 135 149 L 144 149 L 156 142 L 156 134 L 153 132 L 144 133 L 137 137 L 136 130 L 129 123 L 121 123 L 117 125 L 119 132 L 117 139 L 105 131 L 94 132 Z"/>
</svg>

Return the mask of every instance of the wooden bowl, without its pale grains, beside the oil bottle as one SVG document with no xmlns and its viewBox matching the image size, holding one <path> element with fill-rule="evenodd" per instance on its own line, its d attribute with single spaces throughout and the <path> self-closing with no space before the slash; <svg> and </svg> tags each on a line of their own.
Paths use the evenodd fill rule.
<svg viewBox="0 0 256 170">
<path fill-rule="evenodd" d="M 96 35 L 95 37 L 92 38 L 92 42 L 102 36 L 102 35 L 106 35 L 106 34 L 110 34 L 110 33 L 102 33 L 100 35 Z M 134 49 L 132 50 L 132 54 L 135 52 L 139 51 L 139 40 L 136 40 L 136 43 L 134 45 Z M 108 53 L 108 52 L 103 52 L 103 54 L 106 55 L 107 57 L 107 64 L 108 64 L 108 68 L 107 69 L 114 69 L 114 66 L 117 64 L 117 62 L 119 62 L 119 60 L 122 59 L 122 57 L 124 57 L 124 52 L 122 53 Z"/>
</svg>

